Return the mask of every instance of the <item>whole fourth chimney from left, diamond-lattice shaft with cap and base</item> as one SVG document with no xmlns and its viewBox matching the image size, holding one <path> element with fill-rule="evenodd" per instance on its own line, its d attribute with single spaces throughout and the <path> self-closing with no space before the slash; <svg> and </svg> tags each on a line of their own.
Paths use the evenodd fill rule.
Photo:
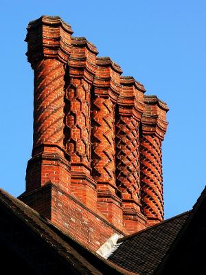
<svg viewBox="0 0 206 275">
<path fill-rule="evenodd" d="M 133 77 L 121 77 L 116 112 L 116 178 L 122 198 L 123 224 L 133 233 L 146 227 L 141 214 L 139 122 L 144 110 L 144 87 Z"/>
</svg>

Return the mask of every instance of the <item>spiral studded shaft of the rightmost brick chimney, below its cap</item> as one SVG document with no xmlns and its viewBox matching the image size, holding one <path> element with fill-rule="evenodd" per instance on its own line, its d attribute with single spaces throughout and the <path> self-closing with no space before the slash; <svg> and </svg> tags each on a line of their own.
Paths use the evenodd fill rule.
<svg viewBox="0 0 206 275">
<path fill-rule="evenodd" d="M 148 219 L 163 220 L 161 140 L 155 135 L 141 137 L 141 203 Z"/>
</svg>

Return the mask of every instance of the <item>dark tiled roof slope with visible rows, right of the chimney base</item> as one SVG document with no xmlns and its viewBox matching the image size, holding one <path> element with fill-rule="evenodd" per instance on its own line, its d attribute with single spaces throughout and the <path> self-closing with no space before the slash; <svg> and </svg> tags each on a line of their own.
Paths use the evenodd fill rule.
<svg viewBox="0 0 206 275">
<path fill-rule="evenodd" d="M 190 211 L 153 225 L 146 230 L 119 239 L 110 261 L 130 272 L 150 275 L 163 261 L 181 231 Z"/>
</svg>

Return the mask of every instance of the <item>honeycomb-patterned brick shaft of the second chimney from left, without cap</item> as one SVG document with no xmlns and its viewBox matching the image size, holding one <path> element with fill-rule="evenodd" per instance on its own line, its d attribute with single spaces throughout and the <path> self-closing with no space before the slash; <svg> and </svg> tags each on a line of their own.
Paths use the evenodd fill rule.
<svg viewBox="0 0 206 275">
<path fill-rule="evenodd" d="M 90 166 L 90 95 L 83 79 L 71 78 L 65 96 L 65 148 L 71 164 Z"/>
</svg>

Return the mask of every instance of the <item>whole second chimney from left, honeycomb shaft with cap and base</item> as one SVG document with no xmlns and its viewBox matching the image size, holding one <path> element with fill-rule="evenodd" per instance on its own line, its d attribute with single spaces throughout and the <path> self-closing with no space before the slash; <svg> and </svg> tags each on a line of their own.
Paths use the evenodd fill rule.
<svg viewBox="0 0 206 275">
<path fill-rule="evenodd" d="M 96 208 L 96 183 L 91 177 L 91 83 L 98 51 L 86 39 L 72 37 L 65 94 L 65 148 L 71 163 L 71 190 Z"/>
</svg>

